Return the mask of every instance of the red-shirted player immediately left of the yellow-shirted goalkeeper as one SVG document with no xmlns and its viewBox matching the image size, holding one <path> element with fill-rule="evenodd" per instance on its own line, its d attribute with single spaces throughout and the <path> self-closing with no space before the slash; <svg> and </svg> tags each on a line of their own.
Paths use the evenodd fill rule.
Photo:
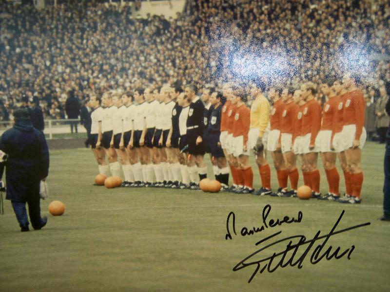
<svg viewBox="0 0 390 292">
<path fill-rule="evenodd" d="M 232 105 L 235 107 L 232 128 L 231 152 L 234 156 L 239 187 L 236 192 L 242 194 L 253 193 L 253 171 L 249 164 L 248 133 L 251 127 L 251 111 L 245 105 L 247 94 L 241 88 L 233 89 Z M 229 124 L 229 120 L 228 120 Z"/>
</svg>

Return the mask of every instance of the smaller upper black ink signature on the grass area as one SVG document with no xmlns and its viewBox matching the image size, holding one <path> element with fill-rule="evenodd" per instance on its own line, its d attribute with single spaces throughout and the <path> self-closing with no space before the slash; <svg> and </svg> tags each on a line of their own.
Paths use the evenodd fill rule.
<svg viewBox="0 0 390 292">
<path fill-rule="evenodd" d="M 241 232 L 240 232 L 241 236 L 254 235 L 257 232 L 264 231 L 266 228 L 280 226 L 283 223 L 287 223 L 287 224 L 290 224 L 293 222 L 300 223 L 302 221 L 302 217 L 303 217 L 302 212 L 299 211 L 297 219 L 295 219 L 293 217 L 290 218 L 288 216 L 284 216 L 282 220 L 276 219 L 276 221 L 275 221 L 274 219 L 270 219 L 268 221 L 268 224 L 267 224 L 267 217 L 270 214 L 270 212 L 271 212 L 271 205 L 269 205 L 269 204 L 265 205 L 264 209 L 263 209 L 263 214 L 262 214 L 263 225 L 261 225 L 261 227 L 253 227 L 253 229 L 248 229 L 247 227 L 243 227 L 241 229 Z M 230 229 L 229 229 L 229 225 L 230 225 L 229 222 L 230 222 L 231 218 L 232 218 L 232 224 L 233 224 L 233 233 L 234 233 L 234 235 L 237 235 L 237 233 L 235 232 L 235 214 L 232 211 L 229 213 L 229 215 L 226 219 L 226 230 L 228 232 L 225 235 L 226 240 L 228 240 L 228 238 L 232 239 L 232 235 L 231 235 Z"/>
</svg>

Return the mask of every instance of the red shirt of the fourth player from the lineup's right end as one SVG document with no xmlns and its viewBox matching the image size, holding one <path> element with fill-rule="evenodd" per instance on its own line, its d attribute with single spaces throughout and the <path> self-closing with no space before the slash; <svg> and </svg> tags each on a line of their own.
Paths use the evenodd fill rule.
<svg viewBox="0 0 390 292">
<path fill-rule="evenodd" d="M 315 99 L 312 99 L 305 104 L 302 115 L 302 135 L 312 134 L 310 137 L 310 145 L 314 145 L 320 128 L 321 106 Z"/>
</svg>

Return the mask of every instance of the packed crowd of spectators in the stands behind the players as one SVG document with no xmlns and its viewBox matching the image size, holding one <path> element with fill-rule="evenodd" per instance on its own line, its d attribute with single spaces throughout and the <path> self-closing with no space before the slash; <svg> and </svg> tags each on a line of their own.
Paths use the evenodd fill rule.
<svg viewBox="0 0 390 292">
<path fill-rule="evenodd" d="M 375 131 L 389 95 L 385 0 L 197 0 L 176 19 L 133 17 L 132 4 L 61 2 L 36 10 L 0 1 L 1 120 L 26 91 L 45 118 L 61 119 L 70 94 L 82 103 L 91 89 L 320 84 L 348 71 L 362 76 Z"/>
</svg>

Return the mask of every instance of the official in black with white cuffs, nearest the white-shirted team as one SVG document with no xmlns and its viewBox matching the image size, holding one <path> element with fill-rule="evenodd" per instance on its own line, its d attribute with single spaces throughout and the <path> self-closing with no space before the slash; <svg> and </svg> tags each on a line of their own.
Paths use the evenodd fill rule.
<svg viewBox="0 0 390 292">
<path fill-rule="evenodd" d="M 186 86 L 185 93 L 191 100 L 187 118 L 188 153 L 192 156 L 197 166 L 199 179 L 202 180 L 207 177 L 207 166 L 203 161 L 205 150 L 202 139 L 205 130 L 203 120 L 204 104 L 196 95 L 197 92 L 194 86 Z"/>
</svg>

